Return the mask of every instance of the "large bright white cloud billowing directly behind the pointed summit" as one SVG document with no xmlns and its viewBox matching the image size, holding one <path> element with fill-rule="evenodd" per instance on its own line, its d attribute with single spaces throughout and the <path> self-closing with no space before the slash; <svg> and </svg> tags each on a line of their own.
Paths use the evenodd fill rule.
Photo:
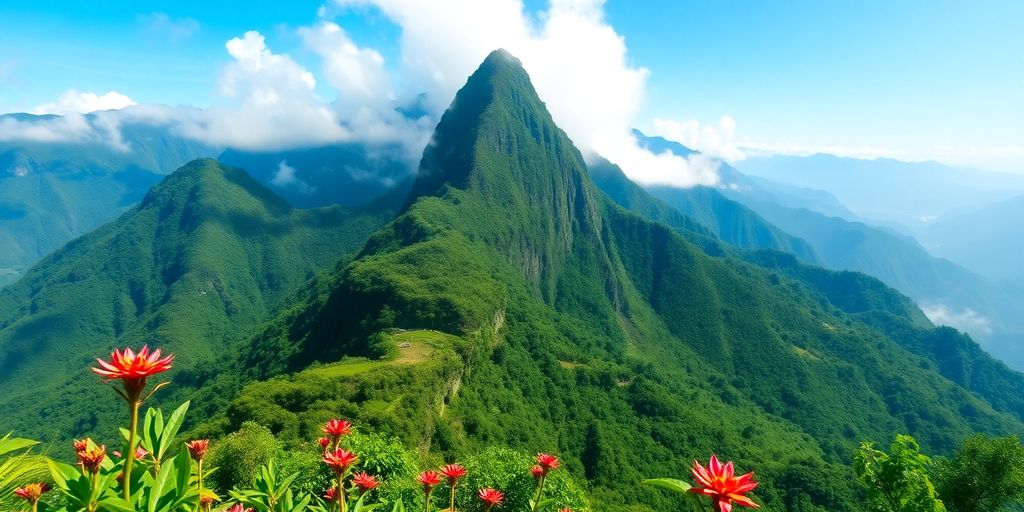
<svg viewBox="0 0 1024 512">
<path fill-rule="evenodd" d="M 626 42 L 604 19 L 603 0 L 552 0 L 536 18 L 519 0 L 336 0 L 375 6 L 401 27 L 399 71 L 424 87 L 435 114 L 496 48 L 519 57 L 555 122 L 585 155 L 601 155 L 633 179 L 714 184 L 717 166 L 652 155 L 631 133 L 648 71 L 630 63 Z"/>
</svg>

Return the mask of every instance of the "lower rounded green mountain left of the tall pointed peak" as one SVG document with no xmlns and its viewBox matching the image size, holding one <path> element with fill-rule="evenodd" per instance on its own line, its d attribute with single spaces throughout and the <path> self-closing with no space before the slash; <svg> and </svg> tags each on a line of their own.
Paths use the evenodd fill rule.
<svg viewBox="0 0 1024 512">
<path fill-rule="evenodd" d="M 174 387 L 187 392 L 300 284 L 389 217 L 294 209 L 212 160 L 178 169 L 137 207 L 0 290 L 0 430 L 63 439 L 117 418 L 109 390 L 81 385 L 95 378 L 89 355 L 114 346 L 175 352 Z M 73 406 L 80 400 L 92 406 Z"/>
</svg>

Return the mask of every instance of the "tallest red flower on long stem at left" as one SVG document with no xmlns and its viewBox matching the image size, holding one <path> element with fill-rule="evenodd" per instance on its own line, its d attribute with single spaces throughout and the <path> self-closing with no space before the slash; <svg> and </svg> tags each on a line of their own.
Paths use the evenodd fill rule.
<svg viewBox="0 0 1024 512">
<path fill-rule="evenodd" d="M 132 463 L 135 462 L 138 410 L 142 406 L 142 402 L 153 396 L 153 393 L 167 384 L 166 382 L 158 384 L 143 398 L 142 393 L 145 391 L 145 381 L 154 375 L 170 370 L 171 361 L 174 360 L 173 355 L 163 358 L 160 355 L 159 348 L 150 352 L 150 347 L 145 345 L 142 346 L 138 353 L 132 351 L 130 348 L 123 350 L 115 349 L 114 353 L 111 354 L 110 361 L 97 358 L 96 362 L 99 365 L 99 368 L 92 369 L 97 375 L 103 377 L 104 382 L 120 380 L 122 389 L 114 388 L 114 390 L 128 402 L 128 450 L 125 451 L 128 456 L 125 459 L 124 470 L 121 473 L 121 485 L 126 501 L 131 500 L 131 470 Z"/>
</svg>

